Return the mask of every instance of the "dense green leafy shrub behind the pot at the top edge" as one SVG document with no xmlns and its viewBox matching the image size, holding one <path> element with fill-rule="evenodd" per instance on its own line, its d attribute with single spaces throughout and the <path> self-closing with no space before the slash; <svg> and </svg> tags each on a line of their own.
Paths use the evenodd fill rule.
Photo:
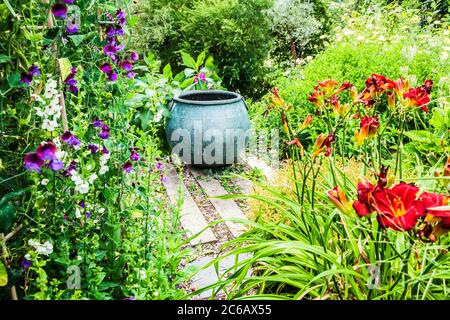
<svg viewBox="0 0 450 320">
<path fill-rule="evenodd" d="M 142 21 L 135 42 L 154 51 L 163 65 L 180 65 L 180 50 L 192 55 L 205 50 L 225 87 L 253 95 L 271 44 L 266 14 L 271 5 L 272 0 L 148 1 L 137 8 Z"/>
</svg>

